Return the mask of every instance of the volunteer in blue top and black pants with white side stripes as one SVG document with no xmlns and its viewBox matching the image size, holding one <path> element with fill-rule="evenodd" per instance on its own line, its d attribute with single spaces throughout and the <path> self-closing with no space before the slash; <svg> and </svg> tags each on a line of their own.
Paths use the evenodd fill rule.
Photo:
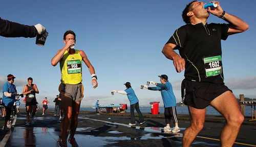
<svg viewBox="0 0 256 147">
<path fill-rule="evenodd" d="M 164 105 L 164 118 L 166 127 L 164 127 L 163 131 L 172 131 L 172 132 L 180 132 L 180 128 L 178 125 L 177 119 L 177 110 L 176 110 L 176 98 L 173 92 L 172 84 L 168 81 L 167 75 L 158 76 L 160 78 L 161 83 L 155 83 L 150 81 L 151 84 L 156 85 L 156 87 L 147 87 L 144 85 L 144 88 L 148 90 L 159 90 L 161 91 L 163 105 Z M 173 120 L 175 127 L 170 128 L 170 119 Z"/>
</svg>

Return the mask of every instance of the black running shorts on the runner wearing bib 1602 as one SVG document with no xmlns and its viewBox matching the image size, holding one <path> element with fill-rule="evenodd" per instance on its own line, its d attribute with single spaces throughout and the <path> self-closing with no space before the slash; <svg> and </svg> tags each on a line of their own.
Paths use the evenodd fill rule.
<svg viewBox="0 0 256 147">
<path fill-rule="evenodd" d="M 181 95 L 184 97 L 184 104 L 204 109 L 210 102 L 222 93 L 232 90 L 223 84 L 213 84 L 209 82 L 197 82 L 184 79 L 181 83 Z"/>
</svg>

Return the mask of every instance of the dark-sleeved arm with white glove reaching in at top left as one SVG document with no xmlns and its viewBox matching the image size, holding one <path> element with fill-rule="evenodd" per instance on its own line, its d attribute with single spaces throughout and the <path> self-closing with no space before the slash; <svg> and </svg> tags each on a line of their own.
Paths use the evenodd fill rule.
<svg viewBox="0 0 256 147">
<path fill-rule="evenodd" d="M 36 37 L 46 29 L 41 24 L 28 26 L 0 18 L 0 36 L 3 37 Z"/>
</svg>

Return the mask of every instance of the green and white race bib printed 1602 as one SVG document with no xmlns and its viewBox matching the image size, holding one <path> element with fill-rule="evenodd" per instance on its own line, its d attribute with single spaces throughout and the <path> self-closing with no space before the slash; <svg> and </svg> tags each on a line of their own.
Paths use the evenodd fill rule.
<svg viewBox="0 0 256 147">
<path fill-rule="evenodd" d="M 203 61 L 206 77 L 217 76 L 221 74 L 221 56 L 203 58 Z"/>
</svg>

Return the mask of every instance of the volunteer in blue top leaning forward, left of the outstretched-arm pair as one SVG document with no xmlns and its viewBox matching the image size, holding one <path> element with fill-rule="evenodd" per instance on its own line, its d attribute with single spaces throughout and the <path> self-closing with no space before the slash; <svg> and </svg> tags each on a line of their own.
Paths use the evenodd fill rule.
<svg viewBox="0 0 256 147">
<path fill-rule="evenodd" d="M 131 111 L 131 123 L 129 123 L 129 125 L 136 125 L 136 120 L 135 120 L 135 115 L 134 115 L 134 109 L 136 109 L 137 113 L 139 114 L 139 121 L 140 124 L 144 124 L 145 120 L 144 117 L 142 115 L 142 113 L 140 112 L 140 108 L 139 108 L 139 100 L 138 97 L 136 96 L 131 83 L 130 82 L 126 82 L 125 84 L 126 89 L 124 91 L 117 91 L 117 90 L 113 90 L 112 92 L 116 92 L 116 93 L 120 93 L 120 94 L 126 94 L 129 101 L 130 101 L 130 111 Z"/>
</svg>

